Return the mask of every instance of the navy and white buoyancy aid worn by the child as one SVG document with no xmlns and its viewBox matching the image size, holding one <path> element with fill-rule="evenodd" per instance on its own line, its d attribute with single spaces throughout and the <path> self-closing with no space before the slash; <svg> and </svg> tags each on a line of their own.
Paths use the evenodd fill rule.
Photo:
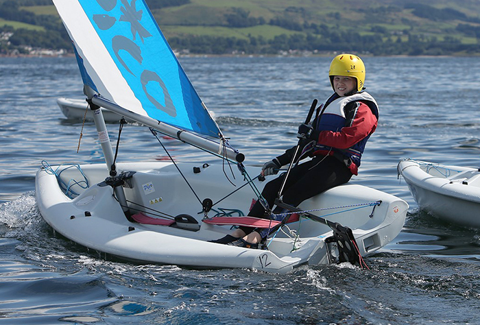
<svg viewBox="0 0 480 325">
<path fill-rule="evenodd" d="M 356 116 L 356 111 L 350 112 L 348 114 L 346 112 L 346 106 L 348 106 L 348 111 L 350 110 L 357 110 L 359 107 L 359 103 L 366 104 L 372 114 L 376 117 L 377 121 L 379 119 L 379 106 L 376 104 L 375 99 L 369 93 L 362 92 L 356 93 L 354 95 L 346 96 L 346 97 L 339 97 L 337 94 L 332 95 L 329 97 L 319 109 L 322 110 L 320 116 L 314 121 L 314 128 L 315 133 L 322 132 L 324 130 L 332 131 L 332 132 L 340 132 L 342 128 L 346 126 L 350 126 Z M 357 103 L 357 104 L 355 104 Z M 348 119 L 348 117 L 349 119 Z M 348 125 L 350 124 L 350 125 Z M 374 129 L 373 129 L 374 130 Z M 370 135 L 373 132 L 370 132 L 367 136 L 363 139 L 352 145 L 347 149 L 339 149 L 337 147 L 331 147 L 328 145 L 322 145 L 322 143 L 315 143 L 313 148 L 305 148 L 311 152 L 310 156 L 318 156 L 318 155 L 333 155 L 340 160 L 346 163 L 347 167 L 357 175 L 358 167 L 360 166 L 361 156 L 363 154 L 363 149 L 365 149 L 365 144 L 370 138 Z"/>
</svg>

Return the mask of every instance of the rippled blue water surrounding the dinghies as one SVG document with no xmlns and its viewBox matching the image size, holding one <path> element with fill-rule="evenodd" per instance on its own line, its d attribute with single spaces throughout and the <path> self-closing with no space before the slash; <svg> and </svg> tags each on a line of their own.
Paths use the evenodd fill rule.
<svg viewBox="0 0 480 325">
<path fill-rule="evenodd" d="M 180 58 L 230 143 L 261 165 L 296 143 L 313 98 L 327 97 L 330 58 Z M 411 208 L 396 240 L 346 265 L 285 275 L 106 261 L 43 221 L 41 160 L 101 163 L 93 123 L 65 119 L 57 97 L 82 97 L 73 58 L 0 58 L 0 324 L 480 324 L 480 231 L 419 211 L 400 158 L 480 165 L 477 58 L 365 58 L 379 128 L 352 182 Z M 118 125 L 108 125 L 115 138 Z M 116 139 L 116 138 L 115 138 Z M 213 161 L 170 141 L 177 160 Z M 126 125 L 119 160 L 163 159 Z M 461 213 L 461 212 L 459 212 Z"/>
</svg>

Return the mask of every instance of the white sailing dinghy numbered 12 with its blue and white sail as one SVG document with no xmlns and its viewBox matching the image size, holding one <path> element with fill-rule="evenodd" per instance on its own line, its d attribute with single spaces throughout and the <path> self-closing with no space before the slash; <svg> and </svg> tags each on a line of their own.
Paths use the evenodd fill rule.
<svg viewBox="0 0 480 325">
<path fill-rule="evenodd" d="M 243 154 L 209 115 L 145 1 L 53 3 L 73 41 L 106 160 L 43 163 L 36 200 L 56 232 L 130 261 L 288 272 L 346 261 L 363 266 L 363 256 L 403 228 L 405 201 L 358 184 L 337 186 L 298 208 L 280 200 L 288 210 L 272 219 L 245 217 L 252 200 L 263 200 L 261 169 L 243 165 Z M 117 163 L 100 107 L 149 126 L 162 146 L 158 134 L 221 163 Z M 269 236 L 261 249 L 210 242 L 235 225 L 265 228 Z"/>
</svg>

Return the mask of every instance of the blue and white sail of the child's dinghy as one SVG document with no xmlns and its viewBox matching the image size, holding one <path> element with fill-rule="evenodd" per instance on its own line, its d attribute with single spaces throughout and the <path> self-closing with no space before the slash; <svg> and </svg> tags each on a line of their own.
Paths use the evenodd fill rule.
<svg viewBox="0 0 480 325">
<path fill-rule="evenodd" d="M 84 84 L 136 115 L 221 137 L 144 0 L 53 0 Z"/>
</svg>

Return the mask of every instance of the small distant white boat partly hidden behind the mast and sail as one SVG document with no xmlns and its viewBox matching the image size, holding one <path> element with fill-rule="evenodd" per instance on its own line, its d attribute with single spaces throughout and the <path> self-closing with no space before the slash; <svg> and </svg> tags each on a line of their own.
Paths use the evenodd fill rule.
<svg viewBox="0 0 480 325">
<path fill-rule="evenodd" d="M 75 119 L 82 121 L 83 119 L 93 121 L 93 110 L 88 109 L 88 103 L 85 99 L 74 99 L 60 97 L 57 99 L 58 107 L 67 119 Z M 104 119 L 108 123 L 118 123 L 121 120 L 121 115 L 110 112 L 104 108 L 100 108 Z M 133 120 L 125 119 L 128 122 Z"/>
</svg>

